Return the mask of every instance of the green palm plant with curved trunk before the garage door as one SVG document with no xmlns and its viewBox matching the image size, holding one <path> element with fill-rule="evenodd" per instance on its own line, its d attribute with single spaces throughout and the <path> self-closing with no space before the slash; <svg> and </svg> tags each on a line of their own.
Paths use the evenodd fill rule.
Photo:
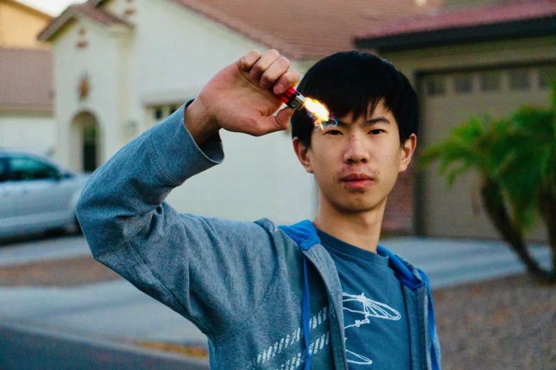
<svg viewBox="0 0 556 370">
<path fill-rule="evenodd" d="M 484 209 L 535 279 L 556 284 L 556 84 L 550 108 L 524 106 L 507 118 L 471 118 L 447 140 L 425 149 L 421 166 L 440 159 L 448 186 L 476 170 Z M 525 232 L 541 218 L 548 230 L 552 269 L 531 257 Z"/>
</svg>

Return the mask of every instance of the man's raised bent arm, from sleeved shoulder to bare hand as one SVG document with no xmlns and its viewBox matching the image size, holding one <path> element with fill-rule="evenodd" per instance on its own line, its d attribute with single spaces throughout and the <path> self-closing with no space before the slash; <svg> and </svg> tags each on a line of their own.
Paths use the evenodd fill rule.
<svg viewBox="0 0 556 370">
<path fill-rule="evenodd" d="M 281 102 L 270 89 L 284 79 L 287 89 L 298 73 L 271 52 L 257 75 L 257 62 L 267 63 L 257 55 L 223 69 L 195 101 L 129 142 L 94 172 L 77 203 L 95 259 L 214 339 L 261 302 L 277 263 L 271 235 L 258 223 L 177 213 L 164 199 L 222 162 L 221 128 L 263 135 L 286 127 L 291 112 L 271 116 Z"/>
</svg>

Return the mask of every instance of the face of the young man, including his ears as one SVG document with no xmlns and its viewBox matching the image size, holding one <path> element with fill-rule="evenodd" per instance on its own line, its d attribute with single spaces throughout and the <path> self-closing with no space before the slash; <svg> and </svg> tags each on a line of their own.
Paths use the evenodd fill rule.
<svg viewBox="0 0 556 370">
<path fill-rule="evenodd" d="M 405 171 L 415 149 L 415 135 L 400 145 L 398 124 L 380 101 L 374 112 L 312 133 L 307 149 L 296 146 L 303 166 L 315 174 L 320 204 L 339 213 L 361 213 L 385 206 L 398 173 Z M 300 148 L 300 150 L 298 150 Z"/>
</svg>

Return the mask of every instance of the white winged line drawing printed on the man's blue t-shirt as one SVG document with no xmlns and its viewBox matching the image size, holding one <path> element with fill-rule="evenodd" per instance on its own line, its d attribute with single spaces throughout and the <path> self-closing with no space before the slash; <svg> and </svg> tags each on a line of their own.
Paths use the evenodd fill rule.
<svg viewBox="0 0 556 370">
<path fill-rule="evenodd" d="M 400 320 L 400 313 L 391 308 L 389 305 L 373 301 L 366 298 L 365 293 L 361 293 L 359 296 L 342 293 L 344 301 L 344 310 L 354 313 L 355 315 L 349 315 L 354 317 L 353 323 L 348 323 L 344 319 L 344 329 L 347 330 L 350 327 L 360 327 L 361 325 L 371 323 L 369 318 L 380 318 L 384 320 Z M 346 337 L 347 340 L 347 337 Z M 356 354 L 354 352 L 346 350 L 347 361 L 351 364 L 359 365 L 370 365 L 373 363 L 371 359 L 368 359 L 361 354 Z"/>
</svg>

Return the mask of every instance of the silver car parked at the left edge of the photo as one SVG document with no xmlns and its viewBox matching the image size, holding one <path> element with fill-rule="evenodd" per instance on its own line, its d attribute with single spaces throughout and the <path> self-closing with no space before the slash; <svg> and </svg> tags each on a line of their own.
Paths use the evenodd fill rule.
<svg viewBox="0 0 556 370">
<path fill-rule="evenodd" d="M 44 155 L 0 148 L 0 237 L 78 230 L 75 203 L 89 176 Z"/>
</svg>

